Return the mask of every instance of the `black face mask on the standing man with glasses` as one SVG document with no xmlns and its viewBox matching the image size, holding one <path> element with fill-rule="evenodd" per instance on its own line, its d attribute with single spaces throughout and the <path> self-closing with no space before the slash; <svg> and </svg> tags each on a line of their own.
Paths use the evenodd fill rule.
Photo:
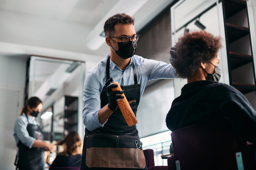
<svg viewBox="0 0 256 170">
<path fill-rule="evenodd" d="M 126 44 L 122 42 L 117 44 L 118 44 L 118 51 L 114 50 L 112 46 L 111 47 L 117 53 L 117 55 L 123 59 L 128 59 L 134 56 L 135 51 L 137 50 L 137 43 L 134 43 L 133 41 L 129 41 Z"/>
</svg>

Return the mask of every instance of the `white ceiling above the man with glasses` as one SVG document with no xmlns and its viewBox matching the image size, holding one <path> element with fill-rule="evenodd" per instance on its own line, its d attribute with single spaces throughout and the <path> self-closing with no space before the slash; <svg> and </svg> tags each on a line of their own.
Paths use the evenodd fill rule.
<svg viewBox="0 0 256 170">
<path fill-rule="evenodd" d="M 145 3 L 132 16 L 137 32 L 173 0 L 138 0 L 141 1 Z M 86 43 L 97 24 L 103 31 L 102 19 L 111 16 L 109 11 L 116 4 L 124 4 L 121 12 L 127 12 L 135 3 L 134 0 L 0 0 L 0 53 L 82 61 L 92 60 L 92 56 L 104 58 L 110 51 L 106 43 L 101 42 L 103 45 L 97 50 L 91 50 Z"/>
</svg>

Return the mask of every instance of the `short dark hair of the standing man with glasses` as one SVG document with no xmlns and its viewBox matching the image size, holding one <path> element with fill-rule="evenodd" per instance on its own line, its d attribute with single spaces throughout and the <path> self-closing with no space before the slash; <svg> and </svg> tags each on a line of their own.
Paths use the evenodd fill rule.
<svg viewBox="0 0 256 170">
<path fill-rule="evenodd" d="M 134 25 L 134 18 L 125 13 L 115 14 L 109 19 L 106 20 L 104 24 L 104 33 L 105 36 L 113 36 L 115 33 L 115 25 L 117 24 L 132 24 Z"/>
</svg>

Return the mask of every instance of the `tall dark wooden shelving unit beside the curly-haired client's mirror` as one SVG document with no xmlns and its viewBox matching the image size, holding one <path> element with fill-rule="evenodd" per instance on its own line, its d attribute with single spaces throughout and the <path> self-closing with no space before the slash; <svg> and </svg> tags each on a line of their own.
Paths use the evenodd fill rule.
<svg viewBox="0 0 256 170">
<path fill-rule="evenodd" d="M 246 1 L 223 0 L 222 6 L 229 83 L 243 94 L 255 92 L 255 67 Z M 253 77 L 248 75 L 253 75 Z"/>
</svg>

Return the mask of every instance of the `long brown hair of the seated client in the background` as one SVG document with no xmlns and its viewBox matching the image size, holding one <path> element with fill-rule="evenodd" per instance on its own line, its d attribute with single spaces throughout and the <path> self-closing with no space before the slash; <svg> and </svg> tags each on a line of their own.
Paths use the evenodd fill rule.
<svg viewBox="0 0 256 170">
<path fill-rule="evenodd" d="M 59 155 L 69 156 L 82 154 L 82 140 L 76 131 L 67 134 L 64 139 L 57 142 L 57 145 L 65 145 L 64 151 Z"/>
</svg>

